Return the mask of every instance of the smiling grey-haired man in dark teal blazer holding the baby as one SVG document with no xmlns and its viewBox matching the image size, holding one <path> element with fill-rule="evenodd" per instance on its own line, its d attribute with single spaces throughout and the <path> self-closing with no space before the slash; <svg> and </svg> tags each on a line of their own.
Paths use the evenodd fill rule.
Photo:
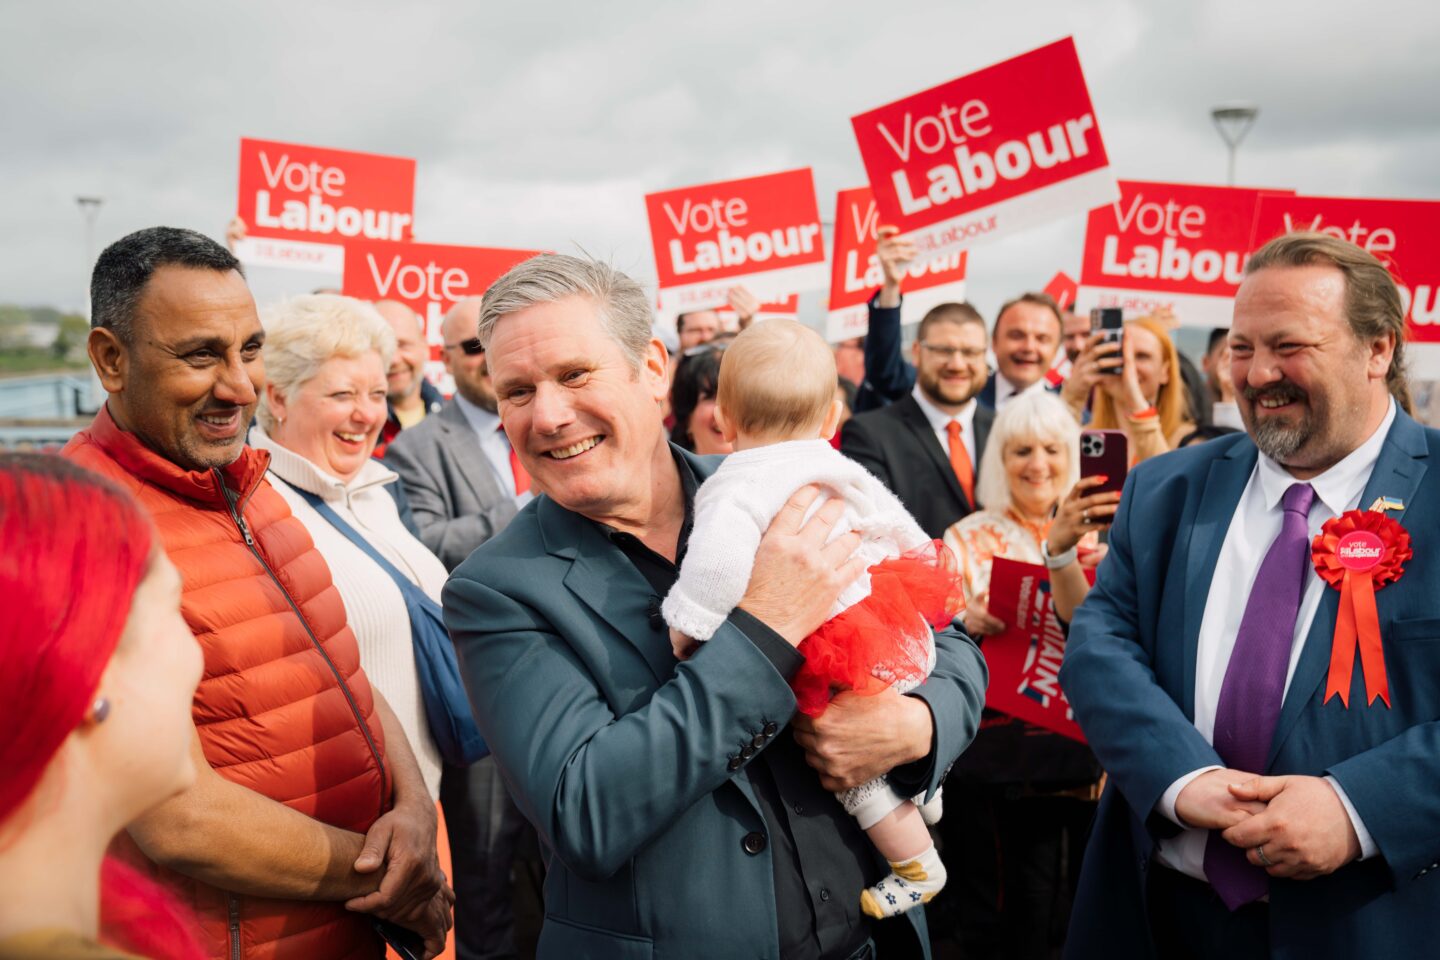
<svg viewBox="0 0 1440 960">
<path fill-rule="evenodd" d="M 540 957 L 927 956 L 924 915 L 871 921 L 888 869 L 832 790 L 888 773 L 933 794 L 971 741 L 985 665 L 956 630 L 913 695 L 838 694 L 811 721 L 799 642 L 860 573 L 844 507 L 799 491 L 750 586 L 690 659 L 660 597 L 719 458 L 667 442 L 665 348 L 644 289 L 543 255 L 485 294 L 481 340 L 505 432 L 543 491 L 445 587 L 475 717 L 544 841 Z"/>
</svg>

